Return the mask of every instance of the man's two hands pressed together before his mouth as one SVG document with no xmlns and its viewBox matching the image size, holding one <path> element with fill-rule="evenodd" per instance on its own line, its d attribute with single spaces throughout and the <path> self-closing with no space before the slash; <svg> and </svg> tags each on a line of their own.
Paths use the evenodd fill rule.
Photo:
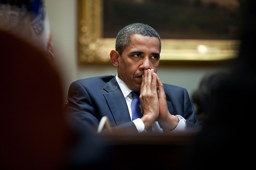
<svg viewBox="0 0 256 170">
<path fill-rule="evenodd" d="M 157 88 L 158 85 L 158 88 Z M 167 129 L 174 129 L 178 120 L 168 111 L 164 86 L 154 69 L 144 70 L 140 91 L 141 111 L 145 129 L 155 121 L 164 125 Z"/>
</svg>

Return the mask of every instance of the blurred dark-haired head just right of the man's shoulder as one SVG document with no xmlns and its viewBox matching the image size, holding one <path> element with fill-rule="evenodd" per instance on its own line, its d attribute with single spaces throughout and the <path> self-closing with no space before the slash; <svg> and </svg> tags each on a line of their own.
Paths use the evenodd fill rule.
<svg viewBox="0 0 256 170">
<path fill-rule="evenodd" d="M 219 70 L 207 73 L 201 80 L 199 88 L 194 91 L 191 101 L 196 106 L 196 117 L 198 120 L 205 120 L 205 110 L 211 104 L 212 96 L 220 85 L 226 80 L 228 70 Z"/>
</svg>

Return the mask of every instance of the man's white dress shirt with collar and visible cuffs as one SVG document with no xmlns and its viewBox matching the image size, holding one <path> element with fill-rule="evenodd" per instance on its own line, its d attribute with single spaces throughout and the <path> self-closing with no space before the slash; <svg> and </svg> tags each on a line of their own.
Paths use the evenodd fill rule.
<svg viewBox="0 0 256 170">
<path fill-rule="evenodd" d="M 132 90 L 121 79 L 119 79 L 117 74 L 116 74 L 115 78 L 116 78 L 116 81 L 117 81 L 119 87 L 121 88 L 121 91 L 122 91 L 123 95 L 124 95 L 124 98 L 126 100 L 127 107 L 128 107 L 129 113 L 130 113 L 130 117 L 131 117 L 131 120 L 132 120 L 132 110 L 131 110 L 131 102 L 132 102 L 132 94 L 131 94 L 131 92 L 132 92 Z M 177 131 L 177 130 L 185 130 L 185 128 L 186 128 L 186 120 L 182 116 L 180 116 L 180 115 L 177 115 L 177 116 L 179 116 L 182 119 L 179 121 L 178 125 L 176 126 L 176 128 L 174 130 L 175 131 Z M 133 120 L 133 123 L 135 124 L 135 126 L 136 126 L 136 128 L 137 128 L 139 133 L 141 133 L 141 132 L 143 132 L 145 130 L 144 129 L 145 125 L 144 125 L 143 121 L 140 118 Z M 163 129 L 159 126 L 158 122 L 154 122 L 151 125 L 151 127 L 152 127 L 152 131 L 153 132 L 163 133 Z M 173 132 L 173 131 L 171 131 L 171 132 Z"/>
</svg>

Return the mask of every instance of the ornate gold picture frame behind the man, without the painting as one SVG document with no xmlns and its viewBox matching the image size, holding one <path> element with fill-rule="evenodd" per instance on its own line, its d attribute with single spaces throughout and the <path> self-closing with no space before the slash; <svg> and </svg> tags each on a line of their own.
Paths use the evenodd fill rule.
<svg viewBox="0 0 256 170">
<path fill-rule="evenodd" d="M 80 63 L 110 63 L 115 38 L 103 38 L 103 0 L 78 0 Z M 239 40 L 162 39 L 161 63 L 219 62 L 237 57 Z"/>
</svg>

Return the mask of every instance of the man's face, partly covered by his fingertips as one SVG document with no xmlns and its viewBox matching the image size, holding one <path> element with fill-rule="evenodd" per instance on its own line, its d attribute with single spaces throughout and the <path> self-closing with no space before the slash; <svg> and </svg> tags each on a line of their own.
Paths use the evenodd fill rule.
<svg viewBox="0 0 256 170">
<path fill-rule="evenodd" d="M 134 34 L 130 44 L 118 57 L 118 77 L 133 91 L 140 92 L 141 76 L 144 69 L 154 69 L 159 64 L 160 46 L 157 37 Z"/>
</svg>

